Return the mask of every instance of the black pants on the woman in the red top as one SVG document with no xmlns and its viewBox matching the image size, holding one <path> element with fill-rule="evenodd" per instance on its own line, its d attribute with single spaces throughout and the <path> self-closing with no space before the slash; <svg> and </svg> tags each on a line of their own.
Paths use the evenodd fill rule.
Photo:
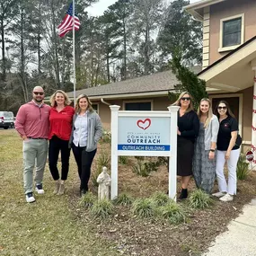
<svg viewBox="0 0 256 256">
<path fill-rule="evenodd" d="M 54 136 L 49 140 L 49 171 L 54 181 L 59 179 L 59 173 L 57 171 L 59 151 L 61 153 L 61 180 L 66 181 L 70 156 L 68 140 L 63 140 Z"/>
</svg>

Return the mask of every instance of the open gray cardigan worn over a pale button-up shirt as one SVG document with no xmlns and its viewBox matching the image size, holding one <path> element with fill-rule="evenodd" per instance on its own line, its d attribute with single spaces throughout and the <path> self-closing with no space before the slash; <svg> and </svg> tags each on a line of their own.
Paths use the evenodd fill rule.
<svg viewBox="0 0 256 256">
<path fill-rule="evenodd" d="M 75 129 L 75 119 L 77 118 L 77 114 L 75 113 L 73 117 L 73 126 L 72 126 L 72 132 L 69 139 L 69 147 L 71 147 L 73 138 L 74 138 L 74 129 Z M 93 110 L 88 111 L 87 113 L 87 145 L 86 145 L 86 151 L 91 152 L 97 148 L 97 143 L 99 139 L 102 137 L 102 121 L 99 117 L 99 115 Z"/>
</svg>

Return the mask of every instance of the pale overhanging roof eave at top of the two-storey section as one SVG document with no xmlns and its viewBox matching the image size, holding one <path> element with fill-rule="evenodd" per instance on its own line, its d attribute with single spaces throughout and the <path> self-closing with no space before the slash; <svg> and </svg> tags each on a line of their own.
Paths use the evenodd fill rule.
<svg viewBox="0 0 256 256">
<path fill-rule="evenodd" d="M 183 9 L 190 13 L 196 20 L 203 21 L 204 8 L 213 4 L 225 2 L 226 0 L 202 0 L 194 4 L 189 4 Z"/>
</svg>

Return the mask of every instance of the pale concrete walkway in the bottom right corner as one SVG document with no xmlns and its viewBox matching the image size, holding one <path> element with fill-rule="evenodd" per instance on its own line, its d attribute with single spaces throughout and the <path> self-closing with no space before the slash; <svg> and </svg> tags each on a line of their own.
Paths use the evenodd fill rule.
<svg viewBox="0 0 256 256">
<path fill-rule="evenodd" d="M 227 227 L 203 256 L 256 256 L 256 199 Z"/>
</svg>

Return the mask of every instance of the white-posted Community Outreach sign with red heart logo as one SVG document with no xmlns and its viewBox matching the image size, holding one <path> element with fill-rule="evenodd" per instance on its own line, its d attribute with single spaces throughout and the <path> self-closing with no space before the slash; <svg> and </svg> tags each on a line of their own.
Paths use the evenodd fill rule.
<svg viewBox="0 0 256 256">
<path fill-rule="evenodd" d="M 111 199 L 118 197 L 118 156 L 168 156 L 169 198 L 176 200 L 177 111 L 111 110 Z"/>
</svg>

